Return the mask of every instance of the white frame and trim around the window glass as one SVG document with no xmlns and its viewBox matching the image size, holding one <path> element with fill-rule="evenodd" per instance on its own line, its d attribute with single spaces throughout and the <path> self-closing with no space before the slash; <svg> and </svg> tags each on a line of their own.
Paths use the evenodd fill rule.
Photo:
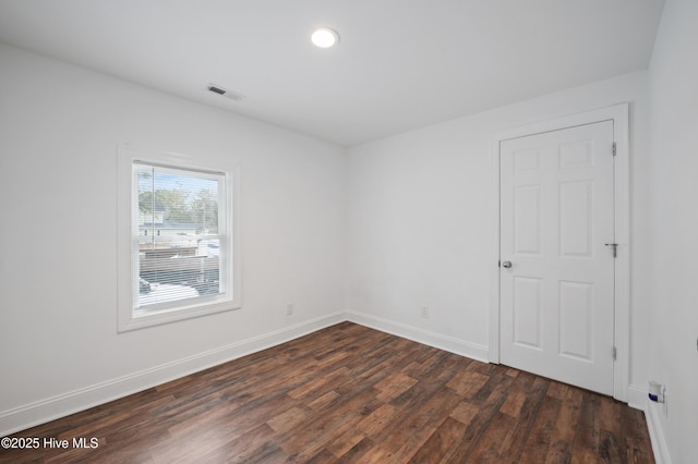
<svg viewBox="0 0 698 464">
<path fill-rule="evenodd" d="M 135 307 L 134 276 L 140 273 L 139 254 L 134 252 L 133 240 L 137 240 L 139 218 L 133 212 L 133 202 L 137 202 L 134 186 L 133 164 L 135 162 L 170 167 L 181 170 L 221 172 L 225 175 L 226 195 L 226 243 L 221 253 L 227 254 L 227 268 L 220 272 L 227 276 L 219 295 L 160 303 L 147 308 Z M 141 150 L 122 145 L 117 156 L 117 281 L 118 281 L 118 331 L 142 329 L 151 326 L 191 319 L 209 314 L 239 309 L 242 307 L 241 258 L 240 258 L 240 169 L 225 166 L 220 160 L 192 157 L 174 152 Z M 222 260 L 221 260 L 222 266 Z M 135 273 L 135 274 L 134 274 Z M 135 280 L 137 281 L 137 279 Z"/>
</svg>

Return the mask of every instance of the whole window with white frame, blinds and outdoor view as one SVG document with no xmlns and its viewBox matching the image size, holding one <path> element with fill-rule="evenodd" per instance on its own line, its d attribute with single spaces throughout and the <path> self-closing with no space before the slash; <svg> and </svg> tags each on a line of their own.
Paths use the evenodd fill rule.
<svg viewBox="0 0 698 464">
<path fill-rule="evenodd" d="M 119 330 L 240 307 L 233 172 L 119 155 Z"/>
</svg>

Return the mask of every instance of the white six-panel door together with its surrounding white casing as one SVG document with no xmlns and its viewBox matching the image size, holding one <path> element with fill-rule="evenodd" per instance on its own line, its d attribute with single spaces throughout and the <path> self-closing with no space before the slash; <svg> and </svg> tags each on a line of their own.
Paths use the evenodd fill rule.
<svg viewBox="0 0 698 464">
<path fill-rule="evenodd" d="M 618 105 L 501 132 L 492 151 L 489 359 L 621 401 L 629 370 L 627 112 Z M 618 244 L 616 259 L 606 243 Z"/>
</svg>

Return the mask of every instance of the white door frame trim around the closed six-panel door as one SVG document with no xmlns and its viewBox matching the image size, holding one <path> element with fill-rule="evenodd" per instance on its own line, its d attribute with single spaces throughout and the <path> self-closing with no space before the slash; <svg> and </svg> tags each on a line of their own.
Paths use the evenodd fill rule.
<svg viewBox="0 0 698 464">
<path fill-rule="evenodd" d="M 614 330 L 616 359 L 613 363 L 613 398 L 627 403 L 630 374 L 630 166 L 628 103 L 558 117 L 508 130 L 495 132 L 491 145 L 492 160 L 492 265 L 490 279 L 490 343 L 488 361 L 500 364 L 500 157 L 501 143 L 558 131 L 577 125 L 613 121 L 613 139 L 616 146 L 614 163 L 614 220 L 617 258 L 615 260 Z M 611 156 L 611 155 L 609 155 Z"/>
</svg>

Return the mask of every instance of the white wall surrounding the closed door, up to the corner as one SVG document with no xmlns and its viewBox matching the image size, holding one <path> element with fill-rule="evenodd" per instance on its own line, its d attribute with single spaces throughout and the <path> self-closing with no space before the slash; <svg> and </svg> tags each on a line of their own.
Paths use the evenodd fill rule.
<svg viewBox="0 0 698 464">
<path fill-rule="evenodd" d="M 630 401 L 649 333 L 647 74 L 621 76 L 350 148 L 347 307 L 358 320 L 486 359 L 493 133 L 630 102 Z M 420 317 L 426 305 L 429 319 Z"/>
</svg>

